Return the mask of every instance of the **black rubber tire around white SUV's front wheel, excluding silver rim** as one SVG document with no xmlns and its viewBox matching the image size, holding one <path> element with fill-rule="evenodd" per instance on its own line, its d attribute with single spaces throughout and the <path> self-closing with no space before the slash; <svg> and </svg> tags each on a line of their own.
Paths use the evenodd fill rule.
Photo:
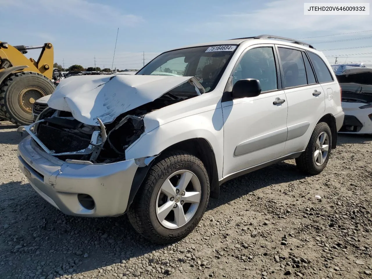
<svg viewBox="0 0 372 279">
<path fill-rule="evenodd" d="M 201 184 L 201 198 L 195 215 L 175 229 L 164 227 L 155 213 L 156 198 L 163 182 L 179 170 L 192 171 Z M 142 236 L 154 243 L 166 244 L 185 238 L 201 220 L 209 200 L 209 176 L 199 158 L 184 151 L 164 154 L 149 170 L 144 183 L 128 209 L 128 219 Z"/>
</svg>

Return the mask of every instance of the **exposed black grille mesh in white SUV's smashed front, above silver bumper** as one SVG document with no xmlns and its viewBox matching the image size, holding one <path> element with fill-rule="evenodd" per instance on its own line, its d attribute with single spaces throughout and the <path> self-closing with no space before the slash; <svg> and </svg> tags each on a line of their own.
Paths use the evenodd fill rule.
<svg viewBox="0 0 372 279">
<path fill-rule="evenodd" d="M 90 144 L 90 140 L 87 138 L 42 123 L 39 125 L 37 137 L 49 150 L 54 150 L 55 153 L 83 150 Z"/>
</svg>

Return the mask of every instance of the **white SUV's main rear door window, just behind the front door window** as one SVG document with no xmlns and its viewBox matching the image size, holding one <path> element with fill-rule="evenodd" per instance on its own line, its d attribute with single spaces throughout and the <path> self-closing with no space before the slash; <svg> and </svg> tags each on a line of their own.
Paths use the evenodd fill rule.
<svg viewBox="0 0 372 279">
<path fill-rule="evenodd" d="M 302 52 L 291 48 L 278 48 L 283 68 L 285 88 L 307 85 L 307 77 Z"/>
</svg>

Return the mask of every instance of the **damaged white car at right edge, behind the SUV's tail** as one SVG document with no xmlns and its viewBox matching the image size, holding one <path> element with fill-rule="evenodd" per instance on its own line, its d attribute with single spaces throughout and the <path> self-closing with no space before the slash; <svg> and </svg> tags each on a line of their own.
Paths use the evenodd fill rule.
<svg viewBox="0 0 372 279">
<path fill-rule="evenodd" d="M 345 112 L 339 132 L 372 134 L 372 69 L 347 66 L 333 70 L 341 86 Z"/>
</svg>

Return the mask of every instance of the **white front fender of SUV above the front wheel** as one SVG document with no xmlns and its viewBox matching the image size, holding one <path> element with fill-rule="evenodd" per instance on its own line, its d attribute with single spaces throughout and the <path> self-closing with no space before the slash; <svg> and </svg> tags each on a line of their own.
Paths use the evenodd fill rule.
<svg viewBox="0 0 372 279">
<path fill-rule="evenodd" d="M 203 138 L 215 153 L 221 179 L 224 146 L 221 94 L 214 90 L 148 113 L 144 116 L 144 134 L 128 147 L 125 157 L 151 157 L 178 142 Z"/>
</svg>

